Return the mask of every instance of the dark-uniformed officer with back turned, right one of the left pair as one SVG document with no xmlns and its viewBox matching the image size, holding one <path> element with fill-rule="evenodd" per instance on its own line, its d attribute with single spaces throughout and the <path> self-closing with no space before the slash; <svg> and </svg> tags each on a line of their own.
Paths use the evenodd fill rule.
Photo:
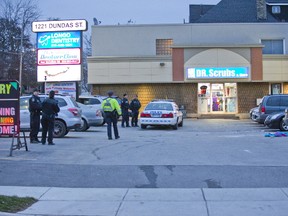
<svg viewBox="0 0 288 216">
<path fill-rule="evenodd" d="M 55 116 L 60 111 L 58 102 L 54 99 L 55 92 L 49 92 L 49 98 L 46 98 L 42 103 L 42 144 L 46 144 L 46 137 L 48 131 L 48 145 L 55 145 L 53 143 L 53 132 Z"/>
</svg>

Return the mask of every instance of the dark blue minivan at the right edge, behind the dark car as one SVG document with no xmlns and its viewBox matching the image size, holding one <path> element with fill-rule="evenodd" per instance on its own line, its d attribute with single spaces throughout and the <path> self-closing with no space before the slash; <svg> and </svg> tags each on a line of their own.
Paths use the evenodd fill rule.
<svg viewBox="0 0 288 216">
<path fill-rule="evenodd" d="M 266 95 L 259 105 L 258 123 L 263 124 L 272 113 L 283 112 L 288 107 L 288 94 Z"/>
</svg>

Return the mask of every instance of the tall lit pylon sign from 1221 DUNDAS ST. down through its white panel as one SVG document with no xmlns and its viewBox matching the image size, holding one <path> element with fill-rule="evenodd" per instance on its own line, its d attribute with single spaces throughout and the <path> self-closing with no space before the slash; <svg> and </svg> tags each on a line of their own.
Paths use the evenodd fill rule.
<svg viewBox="0 0 288 216">
<path fill-rule="evenodd" d="M 80 81 L 82 74 L 82 31 L 86 20 L 37 21 L 37 81 Z"/>
</svg>

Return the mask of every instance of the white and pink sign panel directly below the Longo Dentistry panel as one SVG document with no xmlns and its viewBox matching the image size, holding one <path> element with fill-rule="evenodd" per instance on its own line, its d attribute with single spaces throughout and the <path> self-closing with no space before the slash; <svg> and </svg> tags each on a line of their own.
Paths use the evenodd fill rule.
<svg viewBox="0 0 288 216">
<path fill-rule="evenodd" d="M 79 49 L 41 49 L 38 50 L 38 65 L 80 64 L 81 50 Z"/>
</svg>

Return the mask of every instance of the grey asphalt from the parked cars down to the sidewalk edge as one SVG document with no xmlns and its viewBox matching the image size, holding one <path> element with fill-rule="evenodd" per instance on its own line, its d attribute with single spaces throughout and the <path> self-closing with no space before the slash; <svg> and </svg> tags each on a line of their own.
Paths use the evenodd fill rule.
<svg viewBox="0 0 288 216">
<path fill-rule="evenodd" d="M 9 157 L 0 185 L 56 187 L 287 187 L 288 138 L 251 120 L 185 119 L 183 128 L 106 126 L 70 132 L 55 146 L 28 144 Z M 28 174 L 28 175 L 27 175 Z"/>
</svg>

